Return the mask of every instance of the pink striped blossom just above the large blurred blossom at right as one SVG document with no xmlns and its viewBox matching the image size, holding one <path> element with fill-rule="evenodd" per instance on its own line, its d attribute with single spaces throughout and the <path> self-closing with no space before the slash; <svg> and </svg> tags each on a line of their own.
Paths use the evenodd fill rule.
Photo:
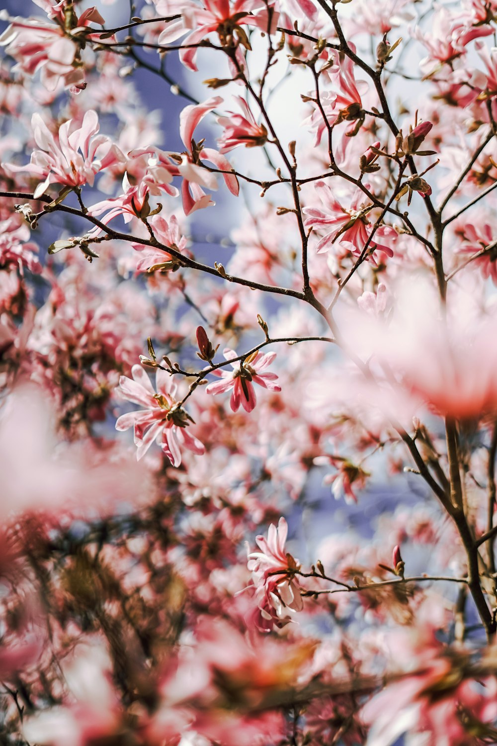
<svg viewBox="0 0 497 746">
<path fill-rule="evenodd" d="M 345 244 L 355 257 L 361 254 L 365 243 L 371 233 L 371 225 L 367 219 L 370 205 L 364 204 L 364 193 L 356 189 L 352 202 L 348 209 L 342 207 L 332 190 L 324 181 L 317 181 L 315 189 L 323 203 L 324 209 L 316 207 L 305 207 L 303 212 L 308 215 L 304 222 L 306 228 L 322 228 L 327 231 L 322 239 L 317 242 L 316 251 L 321 254 L 329 251 L 335 241 L 340 238 L 339 244 Z M 375 232 L 375 237 L 396 237 L 393 228 L 381 225 Z M 392 249 L 384 244 L 373 240 L 369 245 L 367 259 L 375 263 L 374 252 L 383 251 L 388 257 L 393 257 Z"/>
</svg>

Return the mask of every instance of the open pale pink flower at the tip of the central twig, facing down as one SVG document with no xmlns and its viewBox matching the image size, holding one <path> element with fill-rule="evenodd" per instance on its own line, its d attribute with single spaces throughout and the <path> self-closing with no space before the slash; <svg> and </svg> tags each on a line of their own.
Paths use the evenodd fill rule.
<svg viewBox="0 0 497 746">
<path fill-rule="evenodd" d="M 193 420 L 177 406 L 174 398 L 177 386 L 170 374 L 157 370 L 155 392 L 142 366 L 133 366 L 131 373 L 133 380 L 121 376 L 119 391 L 124 399 L 141 404 L 145 409 L 121 415 L 115 429 L 128 430 L 133 427 L 135 444 L 138 446 L 136 458 L 144 457 L 154 440 L 161 443 L 162 451 L 173 466 L 180 466 L 180 446 L 194 454 L 203 454 L 203 444 L 186 430 L 189 420 Z"/>
</svg>

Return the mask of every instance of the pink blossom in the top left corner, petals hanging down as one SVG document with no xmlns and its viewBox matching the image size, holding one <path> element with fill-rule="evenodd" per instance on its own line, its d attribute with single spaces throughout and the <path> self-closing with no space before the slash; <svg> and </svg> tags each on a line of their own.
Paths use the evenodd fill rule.
<svg viewBox="0 0 497 746">
<path fill-rule="evenodd" d="M 95 7 L 89 7 L 81 13 L 79 19 L 72 16 L 73 24 L 69 33 L 66 31 L 66 19 L 63 3 L 52 6 L 34 0 L 40 7 L 45 7 L 48 17 L 55 23 L 39 18 L 9 18 L 10 26 L 1 34 L 0 46 L 6 46 L 7 54 L 17 61 L 15 70 L 22 70 L 26 75 L 40 71 L 42 84 L 48 90 L 55 90 L 62 80 L 64 87 L 72 87 L 77 93 L 85 87 L 84 68 L 80 64 L 80 34 L 90 22 L 104 24 L 105 21 Z M 69 16 L 68 16 L 69 17 Z M 81 37 L 85 38 L 84 36 Z"/>
</svg>

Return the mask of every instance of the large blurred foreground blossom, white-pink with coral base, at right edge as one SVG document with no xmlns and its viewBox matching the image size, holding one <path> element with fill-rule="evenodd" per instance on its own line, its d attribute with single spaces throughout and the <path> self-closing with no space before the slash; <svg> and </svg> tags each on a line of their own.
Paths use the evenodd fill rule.
<svg viewBox="0 0 497 746">
<path fill-rule="evenodd" d="M 452 292 L 458 313 L 444 319 L 431 286 L 404 284 L 387 323 L 372 320 L 361 333 L 387 377 L 418 401 L 444 416 L 480 419 L 497 411 L 497 316 Z"/>
</svg>

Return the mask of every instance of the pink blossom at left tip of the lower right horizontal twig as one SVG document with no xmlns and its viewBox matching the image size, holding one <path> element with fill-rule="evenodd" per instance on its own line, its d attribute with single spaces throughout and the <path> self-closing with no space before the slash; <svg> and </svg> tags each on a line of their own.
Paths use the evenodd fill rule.
<svg viewBox="0 0 497 746">
<path fill-rule="evenodd" d="M 260 551 L 250 552 L 247 568 L 252 573 L 256 586 L 256 601 L 259 606 L 262 630 L 268 630 L 274 621 L 285 624 L 290 620 L 286 609 L 300 611 L 303 600 L 294 570 L 300 565 L 291 554 L 285 551 L 288 524 L 279 518 L 278 527 L 273 524 L 268 529 L 268 539 L 256 536 Z"/>
</svg>

